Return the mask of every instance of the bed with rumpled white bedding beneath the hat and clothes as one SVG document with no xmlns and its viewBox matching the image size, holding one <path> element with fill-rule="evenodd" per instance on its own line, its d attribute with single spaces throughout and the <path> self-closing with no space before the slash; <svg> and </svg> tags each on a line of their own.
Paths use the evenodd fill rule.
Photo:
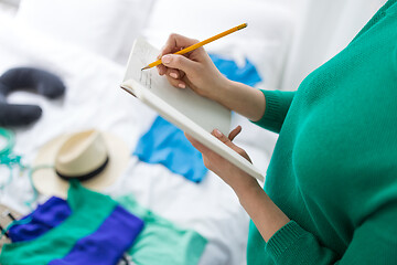
<svg viewBox="0 0 397 265">
<path fill-rule="evenodd" d="M 257 11 L 258 8 L 268 14 L 277 12 L 277 15 L 272 14 L 273 21 L 266 31 L 247 32 L 240 40 L 230 38 L 229 42 L 208 49 L 212 53 L 233 57 L 240 64 L 248 57 L 255 64 L 262 65 L 259 67 L 264 76 L 264 83 L 260 84 L 262 86 L 275 88 L 279 83 L 288 49 L 286 43 L 291 36 L 289 11 L 282 2 L 275 4 L 250 0 L 246 13 L 240 18 L 236 14 L 245 9 L 238 1 L 228 2 L 230 13 L 224 18 L 219 18 L 216 10 L 226 4 L 226 1 L 216 2 L 212 9 L 205 8 L 207 3 L 203 2 L 203 8 L 194 12 L 192 20 L 189 20 L 189 15 L 193 14 L 180 18 L 186 21 L 183 28 L 179 20 L 170 19 L 167 23 L 159 21 L 159 15 L 165 9 L 180 12 L 169 9 L 170 6 L 181 6 L 181 1 L 176 0 L 171 3 L 161 0 L 117 0 L 120 3 L 112 2 L 111 6 L 106 0 L 96 1 L 97 8 L 90 12 L 93 18 L 101 19 L 89 23 L 85 23 L 85 12 L 94 3 L 87 1 L 85 6 L 78 2 L 26 0 L 21 2 L 15 18 L 0 17 L 0 73 L 20 65 L 41 67 L 62 77 L 67 87 L 65 96 L 56 100 L 47 100 L 25 92 L 13 93 L 9 97 L 12 103 L 33 103 L 43 108 L 43 116 L 35 124 L 12 128 L 17 135 L 14 151 L 23 157 L 26 165 L 34 160 L 40 147 L 52 138 L 89 128 L 119 136 L 133 151 L 141 135 L 157 117 L 155 113 L 119 88 L 128 52 L 137 35 L 143 35 L 152 44 L 160 46 L 173 31 L 182 34 L 187 34 L 189 31 L 200 39 L 206 35 L 208 29 L 215 33 L 230 28 L 228 25 L 237 24 L 240 19 L 249 18 L 248 14 L 253 14 L 248 23 L 255 29 L 255 24 L 270 21 L 269 18 L 264 19 L 266 17 Z M 57 8 L 63 13 L 51 9 L 56 8 L 56 4 L 60 4 Z M 185 4 L 192 6 L 193 1 Z M 76 7 L 79 7 L 78 12 Z M 135 17 L 116 26 L 114 23 L 120 15 L 128 14 L 125 7 L 131 8 L 130 15 Z M 139 9 L 139 12 L 133 11 L 133 8 Z M 72 21 L 64 18 L 72 13 Z M 197 20 L 204 13 L 212 20 L 206 21 L 206 26 L 202 28 Z M 105 14 L 106 18 L 103 18 Z M 216 24 L 216 21 L 219 23 Z M 67 31 L 69 26 L 78 24 L 83 29 Z M 120 32 L 115 32 L 116 28 Z M 126 38 L 124 31 L 128 30 L 131 32 Z M 267 52 L 253 53 L 253 50 L 264 49 Z M 233 125 L 238 124 L 243 125 L 243 132 L 237 137 L 236 144 L 246 149 L 254 165 L 265 174 L 277 136 L 235 114 Z M 24 202 L 33 198 L 32 188 L 25 172 L 14 174 L 19 177 L 1 192 L 1 203 L 20 213 L 28 213 L 30 209 Z M 1 169 L 0 180 L 6 179 L 7 172 Z M 249 218 L 232 189 L 212 172 L 197 184 L 170 172 L 161 165 L 148 165 L 131 156 L 124 174 L 103 192 L 111 195 L 132 193 L 140 204 L 157 214 L 182 227 L 197 231 L 208 240 L 200 264 L 245 263 Z M 36 202 L 45 199 L 40 195 Z"/>
</svg>

